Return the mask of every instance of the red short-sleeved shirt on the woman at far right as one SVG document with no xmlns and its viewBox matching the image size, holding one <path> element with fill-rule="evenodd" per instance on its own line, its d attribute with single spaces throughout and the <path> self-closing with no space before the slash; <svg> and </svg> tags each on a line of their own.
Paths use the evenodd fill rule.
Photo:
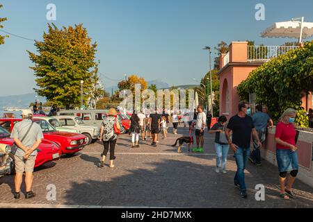
<svg viewBox="0 0 313 222">
<path fill-rule="evenodd" d="M 275 138 L 280 138 L 283 142 L 296 146 L 296 130 L 292 123 L 277 123 Z M 289 147 L 282 146 L 280 144 L 277 144 L 276 147 L 278 149 L 289 149 Z"/>
</svg>

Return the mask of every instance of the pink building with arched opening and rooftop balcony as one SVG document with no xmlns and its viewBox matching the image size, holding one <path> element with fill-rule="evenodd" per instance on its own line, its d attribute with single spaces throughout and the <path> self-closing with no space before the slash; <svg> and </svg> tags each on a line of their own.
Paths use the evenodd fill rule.
<svg viewBox="0 0 313 222">
<path fill-rule="evenodd" d="M 232 42 L 230 51 L 220 56 L 220 115 L 225 115 L 227 119 L 238 112 L 240 101 L 236 88 L 248 78 L 250 72 L 264 64 L 273 57 L 280 56 L 287 51 L 296 49 L 298 46 L 262 46 L 266 53 L 258 52 L 259 46 L 248 46 L 248 42 Z M 256 55 L 257 54 L 257 55 Z M 303 95 L 303 107 L 306 110 L 312 108 L 312 94 Z"/>
</svg>

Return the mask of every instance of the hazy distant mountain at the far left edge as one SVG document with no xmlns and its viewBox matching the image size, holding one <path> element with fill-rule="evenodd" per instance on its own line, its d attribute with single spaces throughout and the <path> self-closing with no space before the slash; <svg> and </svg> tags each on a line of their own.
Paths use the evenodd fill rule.
<svg viewBox="0 0 313 222">
<path fill-rule="evenodd" d="M 35 102 L 37 94 L 28 93 L 16 96 L 0 96 L 0 108 L 3 107 L 16 107 L 16 108 L 27 108 L 29 104 Z M 46 99 L 42 96 L 37 98 L 40 102 L 45 103 Z"/>
</svg>

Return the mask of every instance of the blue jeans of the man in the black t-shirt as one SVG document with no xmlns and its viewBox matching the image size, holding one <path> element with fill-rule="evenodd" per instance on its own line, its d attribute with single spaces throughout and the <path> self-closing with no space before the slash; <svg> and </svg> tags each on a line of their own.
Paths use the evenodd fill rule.
<svg viewBox="0 0 313 222">
<path fill-rule="evenodd" d="M 234 177 L 234 183 L 240 185 L 241 191 L 246 191 L 246 182 L 245 182 L 245 169 L 250 155 L 250 147 L 248 148 L 237 148 L 234 157 L 236 159 L 237 171 Z"/>
</svg>

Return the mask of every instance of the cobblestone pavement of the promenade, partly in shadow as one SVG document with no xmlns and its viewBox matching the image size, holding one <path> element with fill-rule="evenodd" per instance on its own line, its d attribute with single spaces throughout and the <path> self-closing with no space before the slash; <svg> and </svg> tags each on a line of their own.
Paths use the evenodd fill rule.
<svg viewBox="0 0 313 222">
<path fill-rule="evenodd" d="M 188 135 L 186 128 L 179 132 Z M 203 154 L 188 153 L 186 146 L 178 154 L 170 145 L 180 136 L 169 133 L 168 139 L 159 138 L 157 148 L 150 146 L 150 140 L 130 148 L 129 135 L 122 135 L 115 149 L 114 169 L 97 167 L 103 146 L 91 144 L 74 157 L 36 169 L 33 190 L 37 196 L 29 200 L 24 194 L 20 200 L 13 199 L 14 177 L 4 176 L 0 178 L 0 207 L 313 207 L 313 188 L 300 180 L 294 185 L 297 198 L 282 200 L 278 169 L 265 161 L 262 167 L 248 164 L 248 198 L 240 198 L 233 185 L 236 164 L 232 151 L 227 173 L 216 173 L 213 135 L 205 134 Z M 50 184 L 56 185 L 55 201 L 46 198 Z M 265 201 L 255 200 L 257 184 L 266 187 Z"/>
</svg>

